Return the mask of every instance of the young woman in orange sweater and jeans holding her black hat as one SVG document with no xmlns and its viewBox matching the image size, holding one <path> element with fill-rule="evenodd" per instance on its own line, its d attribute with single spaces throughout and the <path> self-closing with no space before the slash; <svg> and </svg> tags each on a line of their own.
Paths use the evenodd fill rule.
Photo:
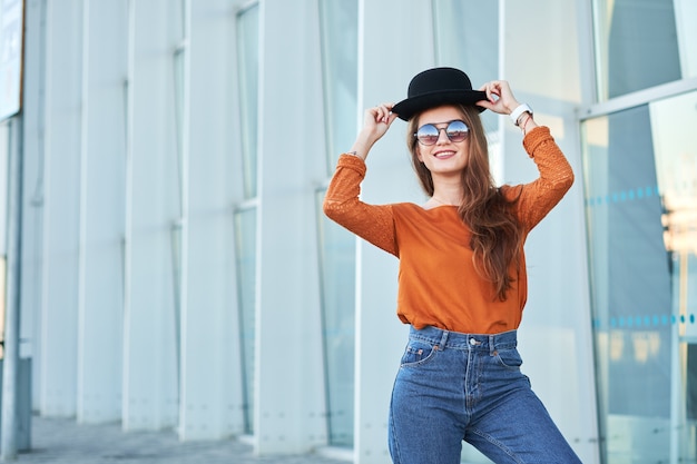
<svg viewBox="0 0 697 464">
<path fill-rule="evenodd" d="M 539 177 L 497 187 L 479 113 L 510 115 Z M 396 117 L 424 205 L 359 199 L 365 158 Z M 523 243 L 561 200 L 573 172 L 546 127 L 505 81 L 473 90 L 453 68 L 416 75 L 408 98 L 365 111 L 338 159 L 325 214 L 400 259 L 397 316 L 410 324 L 390 406 L 396 464 L 458 464 L 462 441 L 495 463 L 580 463 L 520 372 L 527 299 Z"/>
</svg>

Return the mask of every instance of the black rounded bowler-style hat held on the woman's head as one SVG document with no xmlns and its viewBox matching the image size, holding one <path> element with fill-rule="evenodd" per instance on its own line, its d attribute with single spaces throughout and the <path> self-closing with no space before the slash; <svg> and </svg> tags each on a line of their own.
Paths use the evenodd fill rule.
<svg viewBox="0 0 697 464">
<path fill-rule="evenodd" d="M 392 108 L 400 119 L 410 120 L 425 109 L 441 105 L 474 105 L 487 99 L 487 92 L 472 90 L 468 75 L 454 68 L 426 69 L 414 76 L 409 83 L 408 98 Z M 485 108 L 477 107 L 479 111 Z"/>
</svg>

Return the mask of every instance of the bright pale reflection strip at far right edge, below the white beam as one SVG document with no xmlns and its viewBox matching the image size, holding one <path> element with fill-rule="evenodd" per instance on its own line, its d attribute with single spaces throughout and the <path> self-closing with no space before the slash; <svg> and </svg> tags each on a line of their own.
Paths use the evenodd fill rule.
<svg viewBox="0 0 697 464">
<path fill-rule="evenodd" d="M 697 92 L 650 105 L 664 241 L 670 254 L 674 328 L 671 457 L 697 457 Z"/>
</svg>

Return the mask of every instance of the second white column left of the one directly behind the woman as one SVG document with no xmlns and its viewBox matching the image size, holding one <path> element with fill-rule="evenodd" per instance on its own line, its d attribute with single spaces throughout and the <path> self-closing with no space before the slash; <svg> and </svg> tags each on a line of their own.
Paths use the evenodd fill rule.
<svg viewBox="0 0 697 464">
<path fill-rule="evenodd" d="M 186 297 L 181 306 L 179 433 L 184 440 L 243 432 L 239 327 L 234 277 L 229 72 L 235 42 L 228 0 L 190 2 L 185 111 Z"/>
</svg>

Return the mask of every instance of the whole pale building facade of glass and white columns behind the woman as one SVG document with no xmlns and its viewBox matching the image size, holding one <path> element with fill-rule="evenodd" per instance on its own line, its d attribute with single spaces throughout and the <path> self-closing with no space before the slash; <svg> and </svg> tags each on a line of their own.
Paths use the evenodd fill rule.
<svg viewBox="0 0 697 464">
<path fill-rule="evenodd" d="M 526 245 L 534 391 L 585 463 L 697 462 L 697 0 L 24 7 L 0 276 L 36 414 L 390 462 L 397 263 L 322 200 L 363 109 L 452 66 L 509 80 L 577 175 Z M 520 131 L 482 117 L 497 181 L 531 180 Z M 404 130 L 366 201 L 423 201 Z"/>
</svg>

